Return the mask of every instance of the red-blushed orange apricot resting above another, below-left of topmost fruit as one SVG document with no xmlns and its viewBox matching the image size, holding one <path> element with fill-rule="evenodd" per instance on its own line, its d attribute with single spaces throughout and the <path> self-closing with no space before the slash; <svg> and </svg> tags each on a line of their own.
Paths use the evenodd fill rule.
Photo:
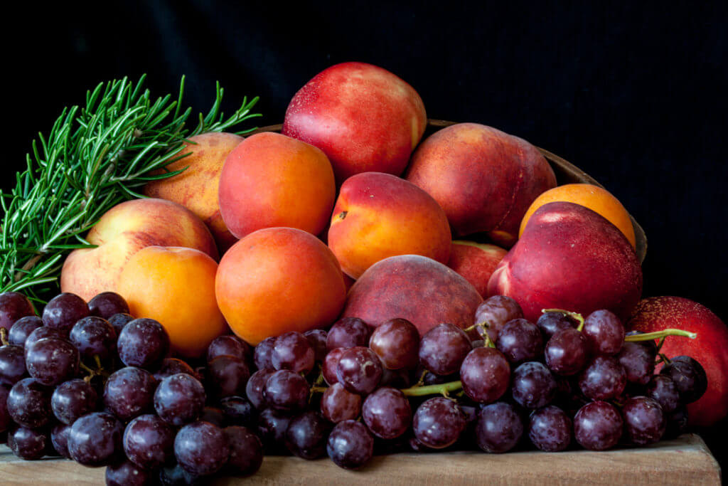
<svg viewBox="0 0 728 486">
<path fill-rule="evenodd" d="M 319 149 L 266 132 L 245 138 L 228 154 L 218 197 L 223 221 L 237 238 L 269 227 L 317 235 L 331 217 L 336 184 Z"/>
</svg>

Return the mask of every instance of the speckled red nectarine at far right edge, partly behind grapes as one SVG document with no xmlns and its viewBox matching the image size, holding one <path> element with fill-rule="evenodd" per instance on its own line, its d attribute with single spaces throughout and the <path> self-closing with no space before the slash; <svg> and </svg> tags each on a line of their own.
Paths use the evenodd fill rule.
<svg viewBox="0 0 728 486">
<path fill-rule="evenodd" d="M 627 325 L 627 329 L 641 332 L 667 328 L 697 334 L 695 340 L 667 337 L 660 353 L 668 358 L 690 356 L 703 366 L 708 389 L 688 404 L 687 420 L 692 426 L 712 426 L 728 415 L 728 327 L 708 307 L 682 297 L 642 299 Z"/>
</svg>

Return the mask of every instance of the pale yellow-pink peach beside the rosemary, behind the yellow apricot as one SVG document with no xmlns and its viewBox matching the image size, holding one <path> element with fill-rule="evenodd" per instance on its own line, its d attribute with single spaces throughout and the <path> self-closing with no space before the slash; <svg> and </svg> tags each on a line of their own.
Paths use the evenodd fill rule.
<svg viewBox="0 0 728 486">
<path fill-rule="evenodd" d="M 137 199 L 115 205 L 92 227 L 86 240 L 98 248 L 71 251 L 60 273 L 60 289 L 86 301 L 116 291 L 122 267 L 141 248 L 184 246 L 213 259 L 218 250 L 213 235 L 197 216 L 164 199 Z"/>
</svg>

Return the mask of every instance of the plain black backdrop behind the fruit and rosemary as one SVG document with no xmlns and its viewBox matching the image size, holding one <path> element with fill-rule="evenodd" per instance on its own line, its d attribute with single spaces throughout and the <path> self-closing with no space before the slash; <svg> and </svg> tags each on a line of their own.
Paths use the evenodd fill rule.
<svg viewBox="0 0 728 486">
<path fill-rule="evenodd" d="M 413 85 L 431 118 L 493 125 L 590 173 L 646 231 L 644 294 L 728 318 L 725 3 L 101 3 L 4 17 L 2 189 L 98 82 L 147 73 L 163 95 L 186 74 L 186 103 L 207 111 L 219 80 L 226 112 L 259 95 L 269 125 L 318 71 L 361 60 Z M 705 433 L 724 467 L 726 432 Z"/>
</svg>

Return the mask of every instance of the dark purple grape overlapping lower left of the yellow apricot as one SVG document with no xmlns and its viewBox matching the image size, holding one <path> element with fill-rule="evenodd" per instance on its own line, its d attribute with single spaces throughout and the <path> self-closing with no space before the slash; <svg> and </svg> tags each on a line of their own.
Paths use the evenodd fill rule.
<svg viewBox="0 0 728 486">
<path fill-rule="evenodd" d="M 127 367 L 153 370 L 167 355 L 170 337 L 154 319 L 134 319 L 119 333 L 116 346 L 119 358 Z"/>
</svg>

